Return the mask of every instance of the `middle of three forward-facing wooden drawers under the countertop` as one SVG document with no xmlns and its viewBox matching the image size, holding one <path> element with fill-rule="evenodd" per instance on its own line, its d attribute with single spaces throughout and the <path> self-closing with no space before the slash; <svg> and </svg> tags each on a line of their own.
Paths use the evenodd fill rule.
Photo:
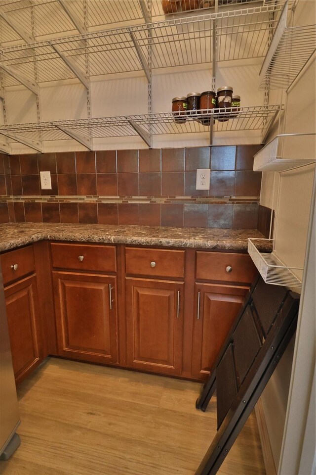
<svg viewBox="0 0 316 475">
<path fill-rule="evenodd" d="M 185 251 L 127 247 L 125 257 L 128 275 L 184 277 Z"/>
</svg>

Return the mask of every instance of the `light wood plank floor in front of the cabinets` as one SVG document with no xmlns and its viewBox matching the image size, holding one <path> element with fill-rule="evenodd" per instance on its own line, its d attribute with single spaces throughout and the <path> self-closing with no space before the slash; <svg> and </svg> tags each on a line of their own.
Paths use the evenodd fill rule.
<svg viewBox="0 0 316 475">
<path fill-rule="evenodd" d="M 194 475 L 216 433 L 201 384 L 49 358 L 18 388 L 21 446 L 3 475 Z M 219 475 L 264 475 L 254 413 Z"/>
</svg>

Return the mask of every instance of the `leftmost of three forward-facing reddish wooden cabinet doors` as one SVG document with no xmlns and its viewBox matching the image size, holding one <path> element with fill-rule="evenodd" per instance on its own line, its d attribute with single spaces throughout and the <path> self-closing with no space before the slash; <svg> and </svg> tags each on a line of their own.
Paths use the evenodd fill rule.
<svg viewBox="0 0 316 475">
<path fill-rule="evenodd" d="M 59 355 L 117 363 L 116 277 L 53 272 L 53 286 Z"/>
</svg>

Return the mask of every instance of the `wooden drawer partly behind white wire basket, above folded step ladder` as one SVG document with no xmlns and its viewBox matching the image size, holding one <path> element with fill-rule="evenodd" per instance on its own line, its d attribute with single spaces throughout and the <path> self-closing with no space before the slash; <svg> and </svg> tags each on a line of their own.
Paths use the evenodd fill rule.
<svg viewBox="0 0 316 475">
<path fill-rule="evenodd" d="M 248 254 L 197 251 L 197 279 L 250 284 L 256 275 Z"/>
</svg>

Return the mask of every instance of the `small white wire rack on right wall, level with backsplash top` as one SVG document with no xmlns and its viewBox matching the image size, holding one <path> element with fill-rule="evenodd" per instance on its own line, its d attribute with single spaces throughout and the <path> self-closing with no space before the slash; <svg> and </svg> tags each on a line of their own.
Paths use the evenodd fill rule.
<svg viewBox="0 0 316 475">
<path fill-rule="evenodd" d="M 253 170 L 282 172 L 315 163 L 315 138 L 314 133 L 277 135 L 256 153 Z"/>
</svg>

